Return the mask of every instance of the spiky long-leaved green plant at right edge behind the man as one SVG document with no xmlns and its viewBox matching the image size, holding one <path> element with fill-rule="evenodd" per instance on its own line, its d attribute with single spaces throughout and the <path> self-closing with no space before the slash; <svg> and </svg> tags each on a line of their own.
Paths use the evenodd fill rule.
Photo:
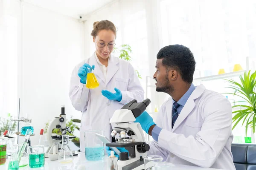
<svg viewBox="0 0 256 170">
<path fill-rule="evenodd" d="M 253 129 L 255 133 L 256 125 L 256 71 L 253 74 L 250 74 L 250 71 L 247 73 L 244 72 L 244 76 L 239 75 L 240 82 L 236 82 L 233 79 L 225 79 L 229 83 L 227 88 L 233 90 L 233 96 L 238 96 L 244 101 L 234 102 L 232 108 L 240 108 L 237 111 L 233 111 L 235 116 L 233 116 L 233 125 L 232 130 L 236 125 L 242 121 L 242 125 L 245 123 L 245 142 L 250 142 L 250 137 L 247 137 L 248 127 Z"/>
</svg>

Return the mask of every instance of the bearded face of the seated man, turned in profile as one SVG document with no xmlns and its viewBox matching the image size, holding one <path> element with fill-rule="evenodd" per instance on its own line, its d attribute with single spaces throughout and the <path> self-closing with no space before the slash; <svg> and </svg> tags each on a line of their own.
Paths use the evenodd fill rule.
<svg viewBox="0 0 256 170">
<path fill-rule="evenodd" d="M 174 88 L 172 85 L 172 79 L 170 79 L 172 76 L 171 74 L 173 70 L 166 68 L 162 63 L 162 60 L 163 59 L 157 59 L 157 62 L 156 62 L 157 71 L 154 73 L 153 77 L 156 80 L 156 91 L 169 94 L 174 91 Z"/>
</svg>

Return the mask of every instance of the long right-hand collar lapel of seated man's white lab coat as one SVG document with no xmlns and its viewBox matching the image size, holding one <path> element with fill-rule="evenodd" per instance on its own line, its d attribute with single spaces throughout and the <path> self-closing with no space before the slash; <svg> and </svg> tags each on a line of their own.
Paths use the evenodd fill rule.
<svg viewBox="0 0 256 170">
<path fill-rule="evenodd" d="M 172 132 L 183 122 L 184 119 L 186 119 L 186 117 L 189 115 L 189 113 L 191 113 L 191 111 L 195 107 L 194 100 L 197 99 L 198 97 L 200 97 L 203 94 L 205 89 L 206 88 L 202 84 L 199 86 L 196 86 L 195 90 L 189 96 L 189 99 L 187 100 L 186 104 L 184 105 L 183 109 L 181 110 L 181 112 L 172 128 Z M 172 98 L 170 98 L 170 99 L 172 99 Z M 168 107 L 171 107 L 168 109 L 170 111 L 172 111 L 172 105 L 168 106 Z"/>
</svg>

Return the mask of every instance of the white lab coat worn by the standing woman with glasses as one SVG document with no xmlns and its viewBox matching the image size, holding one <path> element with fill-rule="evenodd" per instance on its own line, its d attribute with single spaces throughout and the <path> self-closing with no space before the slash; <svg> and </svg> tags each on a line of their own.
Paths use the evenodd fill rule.
<svg viewBox="0 0 256 170">
<path fill-rule="evenodd" d="M 79 68 L 88 63 L 95 65 L 93 73 L 99 82 L 99 87 L 88 89 L 80 82 Z M 115 93 L 114 88 L 122 92 L 122 100 L 109 100 L 102 95 L 102 90 Z M 74 68 L 70 80 L 70 100 L 77 111 L 82 112 L 80 127 L 80 150 L 84 152 L 84 130 L 105 130 L 104 135 L 111 141 L 111 119 L 115 110 L 122 108 L 133 99 L 142 102 L 144 91 L 132 65 L 124 59 L 111 55 L 108 61 L 108 72 L 105 79 L 94 54 L 89 59 L 80 62 Z"/>
</svg>

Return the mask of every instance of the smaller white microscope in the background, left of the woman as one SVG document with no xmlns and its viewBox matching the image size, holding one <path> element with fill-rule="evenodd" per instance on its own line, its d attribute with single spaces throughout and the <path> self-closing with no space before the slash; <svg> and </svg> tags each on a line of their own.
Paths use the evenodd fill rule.
<svg viewBox="0 0 256 170">
<path fill-rule="evenodd" d="M 65 135 L 67 131 L 71 133 L 70 127 L 66 126 L 65 106 L 61 106 L 60 116 L 52 119 L 47 128 L 47 141 L 49 142 L 49 147 L 47 149 L 47 152 L 45 153 L 45 157 L 48 157 L 49 154 L 53 153 L 54 147 L 56 148 L 57 153 L 58 150 L 61 149 L 62 136 L 57 134 L 55 136 L 52 136 L 52 130 L 56 128 L 61 130 L 62 135 Z M 69 139 L 73 138 L 76 138 L 76 136 L 69 136 Z M 72 153 L 74 154 L 75 151 L 72 151 Z"/>
</svg>

